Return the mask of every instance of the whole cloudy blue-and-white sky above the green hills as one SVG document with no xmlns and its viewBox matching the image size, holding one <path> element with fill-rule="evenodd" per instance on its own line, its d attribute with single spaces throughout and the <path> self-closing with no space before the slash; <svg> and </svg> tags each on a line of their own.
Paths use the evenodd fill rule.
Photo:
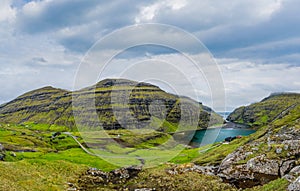
<svg viewBox="0 0 300 191">
<path fill-rule="evenodd" d="M 298 0 L 1 0 L 0 104 L 47 85 L 74 89 L 78 69 L 99 39 L 123 27 L 145 23 L 177 27 L 207 48 L 222 76 L 227 111 L 272 92 L 300 92 L 299 7 Z M 161 39 L 189 45 L 176 37 L 176 31 L 168 31 L 167 36 L 164 32 L 158 35 Z M 134 41 L 146 35 L 129 36 Z M 114 38 L 107 46 L 121 46 L 124 39 L 128 40 L 127 36 Z M 147 58 L 151 60 L 145 62 L 152 68 L 160 68 L 162 60 L 185 68 L 180 55 L 162 47 L 133 48 L 116 56 L 106 75 L 118 77 L 115 70 L 122 69 L 124 63 Z M 192 50 L 188 56 L 201 55 Z M 186 72 L 197 76 L 195 70 Z M 173 78 L 178 80 L 179 76 Z M 197 89 L 197 99 L 219 110 L 209 101 L 209 85 L 204 86 Z"/>
</svg>

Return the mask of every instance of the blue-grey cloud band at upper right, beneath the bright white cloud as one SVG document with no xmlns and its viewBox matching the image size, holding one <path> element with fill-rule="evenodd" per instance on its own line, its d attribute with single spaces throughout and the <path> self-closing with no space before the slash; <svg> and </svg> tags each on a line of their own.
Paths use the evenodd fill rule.
<svg viewBox="0 0 300 191">
<path fill-rule="evenodd" d="M 300 45 L 292 39 L 299 38 L 299 1 L 283 1 L 281 8 L 269 20 L 252 26 L 224 27 L 203 41 L 218 57 L 239 57 L 242 59 L 272 59 L 283 55 L 299 53 Z M 271 43 L 285 41 L 285 43 Z M 263 49 L 261 45 L 264 46 Z M 252 47 L 245 49 L 245 47 Z M 256 48 L 257 47 L 257 48 Z M 240 50 L 239 50 L 240 49 Z M 276 59 L 272 59 L 276 61 Z M 277 60 L 279 61 L 279 60 Z"/>
</svg>

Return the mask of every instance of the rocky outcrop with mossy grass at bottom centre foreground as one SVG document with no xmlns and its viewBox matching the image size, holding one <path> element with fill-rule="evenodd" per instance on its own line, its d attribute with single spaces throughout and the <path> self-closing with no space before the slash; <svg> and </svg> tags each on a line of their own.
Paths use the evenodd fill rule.
<svg viewBox="0 0 300 191">
<path fill-rule="evenodd" d="M 73 190 L 236 190 L 216 176 L 216 167 L 192 163 L 166 163 L 158 168 L 140 170 L 131 166 L 111 172 L 89 169 L 76 183 L 69 183 Z"/>
</svg>

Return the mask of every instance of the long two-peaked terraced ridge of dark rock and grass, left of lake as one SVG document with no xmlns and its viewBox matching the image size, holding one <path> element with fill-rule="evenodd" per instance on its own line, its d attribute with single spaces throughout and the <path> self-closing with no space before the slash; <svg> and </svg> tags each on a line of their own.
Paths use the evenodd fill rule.
<svg viewBox="0 0 300 191">
<path fill-rule="evenodd" d="M 87 128 L 102 125 L 104 129 L 150 127 L 173 131 L 179 122 L 192 126 L 198 115 L 198 128 L 223 122 L 211 109 L 192 99 L 166 93 L 149 83 L 124 79 L 103 80 L 74 92 L 44 87 L 25 93 L 0 106 L 0 121 L 65 125 L 72 129 L 73 112 L 78 117 L 77 125 Z M 159 127 L 154 127 L 157 124 Z"/>
</svg>

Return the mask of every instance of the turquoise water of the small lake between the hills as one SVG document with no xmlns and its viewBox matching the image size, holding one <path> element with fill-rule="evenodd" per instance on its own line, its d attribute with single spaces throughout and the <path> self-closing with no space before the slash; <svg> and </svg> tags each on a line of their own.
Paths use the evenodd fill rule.
<svg viewBox="0 0 300 191">
<path fill-rule="evenodd" d="M 207 130 L 198 130 L 195 132 L 192 142 L 201 146 L 224 141 L 226 137 L 234 137 L 238 135 L 247 136 L 254 133 L 251 129 L 233 129 L 233 128 L 216 128 Z"/>
</svg>

